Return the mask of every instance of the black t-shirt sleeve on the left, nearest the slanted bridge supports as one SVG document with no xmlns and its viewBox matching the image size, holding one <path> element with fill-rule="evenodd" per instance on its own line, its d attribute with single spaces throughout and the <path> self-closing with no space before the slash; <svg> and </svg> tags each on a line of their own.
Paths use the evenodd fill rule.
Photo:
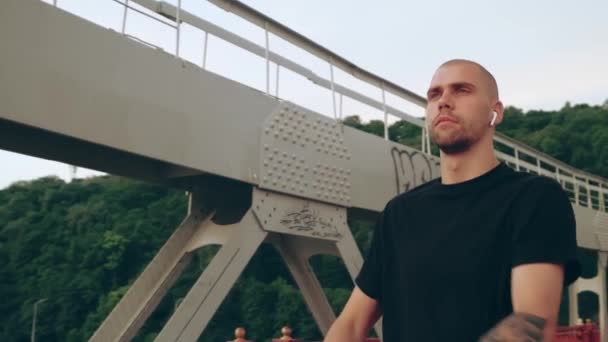
<svg viewBox="0 0 608 342">
<path fill-rule="evenodd" d="M 387 226 L 387 207 L 380 213 L 376 226 L 374 227 L 374 235 L 372 243 L 367 251 L 363 267 L 359 275 L 355 278 L 357 287 L 363 291 L 368 297 L 382 301 L 382 278 L 384 264 L 384 237 Z"/>
</svg>

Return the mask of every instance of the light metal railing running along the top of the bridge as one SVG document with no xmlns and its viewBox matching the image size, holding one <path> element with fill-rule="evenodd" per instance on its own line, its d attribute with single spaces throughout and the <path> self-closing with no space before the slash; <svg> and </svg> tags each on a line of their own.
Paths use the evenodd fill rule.
<svg viewBox="0 0 608 342">
<path fill-rule="evenodd" d="M 247 40 L 237 34 L 234 34 L 218 25 L 215 25 L 197 15 L 194 15 L 182 8 L 182 1 L 177 1 L 177 6 L 155 0 L 112 0 L 124 7 L 122 15 L 122 26 L 121 33 L 129 38 L 140 41 L 148 46 L 159 48 L 158 46 L 145 42 L 142 39 L 128 35 L 125 32 L 128 11 L 137 11 L 153 20 L 159 21 L 169 27 L 175 29 L 175 48 L 173 54 L 177 58 L 180 57 L 180 31 L 182 23 L 187 23 L 202 32 L 204 32 L 203 42 L 203 57 L 201 67 L 206 68 L 207 60 L 207 42 L 209 35 L 220 38 L 226 42 L 229 42 L 241 49 L 250 52 L 265 60 L 265 92 L 269 96 L 279 97 L 279 81 L 280 81 L 280 69 L 285 68 L 296 74 L 304 76 L 312 83 L 325 88 L 331 92 L 332 112 L 333 117 L 336 120 L 342 119 L 342 99 L 348 97 L 354 101 L 362 103 L 364 105 L 375 108 L 384 113 L 384 138 L 388 140 L 388 116 L 392 115 L 398 117 L 410 124 L 416 125 L 421 128 L 421 149 L 424 153 L 431 154 L 431 143 L 430 137 L 426 129 L 426 125 L 423 120 L 417 118 L 407 112 L 391 106 L 386 101 L 386 93 L 395 95 L 402 100 L 407 101 L 410 104 L 418 106 L 419 108 L 425 108 L 426 99 L 420 95 L 417 95 L 397 84 L 394 84 L 382 77 L 379 77 L 369 71 L 359 68 L 355 64 L 346 60 L 345 58 L 335 54 L 334 52 L 326 49 L 325 47 L 313 42 L 312 40 L 300 35 L 299 33 L 289 29 L 288 27 L 278 23 L 272 18 L 257 12 L 256 10 L 248 7 L 236 0 L 208 0 L 210 3 L 234 13 L 235 15 L 257 25 L 264 30 L 264 44 L 258 45 L 250 40 Z M 130 3 L 136 3 L 143 9 L 150 11 L 151 13 L 145 13 L 145 11 L 135 8 Z M 53 4 L 57 4 L 57 0 L 53 0 Z M 163 19 L 160 19 L 153 14 L 164 17 L 163 19 L 169 19 L 172 23 L 168 23 Z M 272 52 L 270 48 L 270 35 L 274 34 L 277 37 L 284 39 L 285 41 L 293 44 L 294 46 L 310 53 L 311 55 L 325 61 L 328 64 L 329 77 L 324 78 L 319 76 L 311 69 L 308 69 L 278 53 Z M 271 68 L 270 63 L 276 65 L 275 73 L 275 92 L 271 94 Z M 359 91 L 353 90 L 349 87 L 341 85 L 335 81 L 334 68 L 352 75 L 354 78 L 363 81 L 364 83 L 375 87 L 380 94 L 380 99 L 375 99 L 373 96 L 363 94 Z M 517 170 L 527 171 L 536 173 L 539 175 L 548 176 L 556 179 L 562 187 L 569 194 L 571 201 L 574 204 L 589 207 L 599 211 L 608 212 L 608 180 L 599 176 L 595 176 L 573 168 L 563 162 L 560 162 L 540 151 L 537 151 L 525 144 L 517 142 L 507 136 L 500 133 L 496 133 L 495 144 L 498 150 L 497 156 L 499 159 L 505 161 L 508 165 L 514 167 Z M 508 151 L 508 152 L 501 152 Z"/>
</svg>

